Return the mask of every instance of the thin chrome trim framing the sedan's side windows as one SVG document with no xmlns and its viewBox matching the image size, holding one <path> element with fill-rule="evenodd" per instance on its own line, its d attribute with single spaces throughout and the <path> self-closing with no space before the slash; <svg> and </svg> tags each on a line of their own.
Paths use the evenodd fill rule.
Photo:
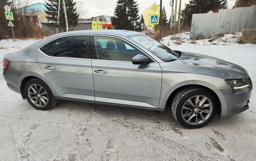
<svg viewBox="0 0 256 161">
<path fill-rule="evenodd" d="M 124 38 L 120 38 L 119 36 L 113 36 L 113 35 L 102 35 L 102 34 L 74 34 L 74 35 L 63 35 L 60 36 L 58 38 L 54 38 L 51 41 L 41 45 L 37 50 L 42 53 L 44 56 L 49 57 L 49 58 L 65 58 L 65 59 L 85 59 L 85 60 L 100 60 L 100 61 L 111 61 L 111 62 L 127 62 L 127 61 L 112 61 L 112 60 L 104 60 L 104 59 L 91 59 L 91 58 L 71 58 L 71 57 L 53 57 L 53 56 L 48 56 L 47 54 L 45 54 L 44 52 L 42 52 L 42 50 L 40 50 L 40 48 L 42 48 L 44 45 L 47 45 L 48 43 L 53 42 L 54 40 L 60 39 L 60 38 L 64 38 L 67 36 L 105 36 L 105 37 L 112 37 L 112 38 L 116 38 L 116 39 L 121 39 L 124 42 L 129 43 L 132 47 L 140 50 L 140 52 L 142 52 L 143 54 L 145 54 L 146 56 L 148 56 L 150 59 L 152 59 L 154 61 L 154 63 L 157 63 L 157 61 L 152 58 L 151 56 L 149 56 L 148 53 L 144 52 L 144 50 L 140 49 L 139 47 L 137 47 L 136 45 L 132 44 L 131 42 L 129 42 L 128 40 L 125 40 Z M 91 53 L 92 54 L 92 53 Z M 129 62 L 131 63 L 131 62 Z"/>
</svg>

